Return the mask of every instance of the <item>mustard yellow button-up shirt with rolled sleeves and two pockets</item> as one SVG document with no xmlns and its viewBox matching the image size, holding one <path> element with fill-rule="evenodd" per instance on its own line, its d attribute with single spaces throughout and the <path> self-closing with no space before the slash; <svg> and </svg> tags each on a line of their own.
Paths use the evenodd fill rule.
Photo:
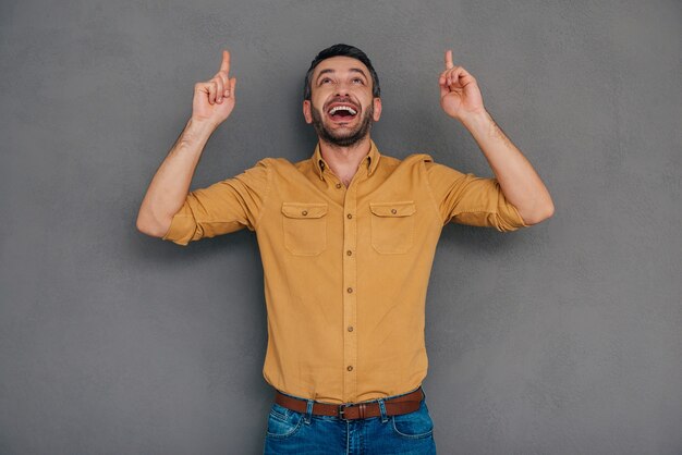
<svg viewBox="0 0 682 455">
<path fill-rule="evenodd" d="M 296 163 L 266 158 L 187 195 L 163 239 L 180 245 L 247 228 L 264 268 L 273 388 L 327 403 L 416 389 L 426 377 L 425 299 L 450 221 L 526 226 L 496 179 L 428 155 L 400 160 L 375 143 L 346 188 L 315 148 Z"/>
</svg>

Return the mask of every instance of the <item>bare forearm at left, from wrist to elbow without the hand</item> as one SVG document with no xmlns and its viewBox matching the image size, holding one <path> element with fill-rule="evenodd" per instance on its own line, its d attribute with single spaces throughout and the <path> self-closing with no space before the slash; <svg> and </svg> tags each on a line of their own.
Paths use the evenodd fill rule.
<svg viewBox="0 0 682 455">
<path fill-rule="evenodd" d="M 182 208 L 199 158 L 215 131 L 208 122 L 187 122 L 180 137 L 157 170 L 137 214 L 137 229 L 162 237 L 173 216 Z"/>
</svg>

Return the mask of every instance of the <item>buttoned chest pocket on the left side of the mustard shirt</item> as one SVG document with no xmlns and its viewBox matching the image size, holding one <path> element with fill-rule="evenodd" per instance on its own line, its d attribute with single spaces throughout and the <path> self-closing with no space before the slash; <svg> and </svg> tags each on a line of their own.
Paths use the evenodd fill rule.
<svg viewBox="0 0 682 455">
<path fill-rule="evenodd" d="M 282 202 L 282 230 L 289 253 L 319 255 L 327 248 L 327 204 Z"/>
</svg>

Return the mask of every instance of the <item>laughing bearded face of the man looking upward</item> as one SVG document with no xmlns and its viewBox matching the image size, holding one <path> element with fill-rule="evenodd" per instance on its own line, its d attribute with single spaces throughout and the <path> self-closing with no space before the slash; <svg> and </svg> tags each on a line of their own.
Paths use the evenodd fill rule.
<svg viewBox="0 0 682 455">
<path fill-rule="evenodd" d="M 348 147 L 364 138 L 381 114 L 381 100 L 372 96 L 369 70 L 360 60 L 332 57 L 321 61 L 310 79 L 310 100 L 303 115 L 321 140 Z"/>
</svg>

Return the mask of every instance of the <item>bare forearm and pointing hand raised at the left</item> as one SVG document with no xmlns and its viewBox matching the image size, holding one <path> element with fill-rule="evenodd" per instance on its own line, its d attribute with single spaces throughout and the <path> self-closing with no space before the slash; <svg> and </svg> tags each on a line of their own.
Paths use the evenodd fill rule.
<svg viewBox="0 0 682 455">
<path fill-rule="evenodd" d="M 185 202 L 208 138 L 234 109 L 236 78 L 229 74 L 230 53 L 223 50 L 218 73 L 195 84 L 192 118 L 154 175 L 139 207 L 136 225 L 141 232 L 163 237 Z"/>
</svg>

